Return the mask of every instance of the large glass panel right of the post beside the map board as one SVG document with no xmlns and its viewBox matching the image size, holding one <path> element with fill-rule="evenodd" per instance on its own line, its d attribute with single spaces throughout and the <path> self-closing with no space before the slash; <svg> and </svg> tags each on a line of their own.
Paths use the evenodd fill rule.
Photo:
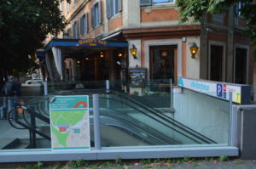
<svg viewBox="0 0 256 169">
<path fill-rule="evenodd" d="M 101 96 L 103 146 L 228 144 L 228 102 L 198 93 L 175 93 L 174 111 L 170 106 L 155 108 L 144 100 L 147 97 Z"/>
</svg>

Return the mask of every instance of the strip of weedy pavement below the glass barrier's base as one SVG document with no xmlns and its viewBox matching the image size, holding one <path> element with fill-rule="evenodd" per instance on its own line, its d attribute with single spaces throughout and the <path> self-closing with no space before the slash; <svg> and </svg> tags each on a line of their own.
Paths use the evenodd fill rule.
<svg viewBox="0 0 256 169">
<path fill-rule="evenodd" d="M 147 163 L 143 161 L 122 161 L 117 164 L 115 161 L 69 161 L 69 162 L 50 162 L 50 163 L 0 163 L 1 169 L 72 169 L 72 168 L 86 168 L 86 169 L 112 169 L 112 168 L 125 168 L 125 169 L 256 169 L 256 161 L 177 161 L 176 163 L 160 161 Z"/>
</svg>

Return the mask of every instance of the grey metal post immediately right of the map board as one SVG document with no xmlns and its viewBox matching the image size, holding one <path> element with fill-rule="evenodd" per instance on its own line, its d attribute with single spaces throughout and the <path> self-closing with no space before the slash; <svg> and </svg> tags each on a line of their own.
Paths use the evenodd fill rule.
<svg viewBox="0 0 256 169">
<path fill-rule="evenodd" d="M 102 149 L 100 130 L 100 106 L 99 94 L 93 94 L 93 120 L 94 120 L 94 142 L 95 149 Z"/>
</svg>

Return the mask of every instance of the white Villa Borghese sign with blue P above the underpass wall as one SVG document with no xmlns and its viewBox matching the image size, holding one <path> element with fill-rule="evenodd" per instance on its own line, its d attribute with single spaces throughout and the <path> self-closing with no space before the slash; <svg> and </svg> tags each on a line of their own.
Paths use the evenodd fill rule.
<svg viewBox="0 0 256 169">
<path fill-rule="evenodd" d="M 177 85 L 179 87 L 188 88 L 195 92 L 205 93 L 218 99 L 225 100 L 230 99 L 230 92 L 232 92 L 232 100 L 234 103 L 251 103 L 251 87 L 249 85 L 195 80 L 184 77 L 178 78 Z"/>
</svg>

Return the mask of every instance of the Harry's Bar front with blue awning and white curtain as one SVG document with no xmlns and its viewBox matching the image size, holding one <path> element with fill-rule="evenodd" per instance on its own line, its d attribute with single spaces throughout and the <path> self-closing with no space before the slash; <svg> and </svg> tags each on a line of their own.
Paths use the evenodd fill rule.
<svg viewBox="0 0 256 169">
<path fill-rule="evenodd" d="M 53 39 L 44 51 L 49 81 L 119 80 L 128 68 L 125 41 Z"/>
</svg>

